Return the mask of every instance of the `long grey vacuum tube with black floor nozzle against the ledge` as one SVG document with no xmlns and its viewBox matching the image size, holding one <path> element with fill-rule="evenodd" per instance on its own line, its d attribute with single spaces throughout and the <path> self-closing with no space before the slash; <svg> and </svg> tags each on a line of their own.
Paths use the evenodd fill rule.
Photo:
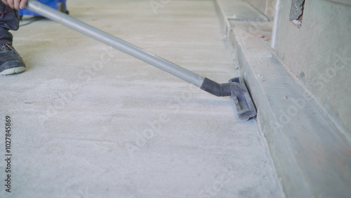
<svg viewBox="0 0 351 198">
<path fill-rule="evenodd" d="M 74 19 L 65 13 L 56 11 L 55 9 L 41 4 L 39 1 L 29 0 L 27 2 L 27 9 L 38 13 L 48 19 L 59 22 L 66 27 L 86 34 L 88 37 L 101 41 L 104 44 L 112 46 L 119 51 L 127 53 L 139 60 L 143 60 L 154 67 L 164 70 L 173 76 L 183 79 L 194 86 L 201 88 L 208 93 L 216 96 L 232 96 L 234 98 L 234 103 L 237 107 L 237 113 L 239 114 L 239 119 L 248 120 L 251 117 L 256 116 L 256 108 L 253 105 L 249 91 L 246 88 L 244 80 L 241 77 L 231 79 L 229 83 L 218 84 L 211 79 L 201 77 L 199 74 L 195 74 L 179 65 L 169 62 L 164 58 L 158 57 L 157 55 L 152 55 L 147 51 L 144 51 L 138 46 L 129 44 L 128 42 L 107 34 L 100 29 L 87 25 L 80 20 Z"/>
</svg>

